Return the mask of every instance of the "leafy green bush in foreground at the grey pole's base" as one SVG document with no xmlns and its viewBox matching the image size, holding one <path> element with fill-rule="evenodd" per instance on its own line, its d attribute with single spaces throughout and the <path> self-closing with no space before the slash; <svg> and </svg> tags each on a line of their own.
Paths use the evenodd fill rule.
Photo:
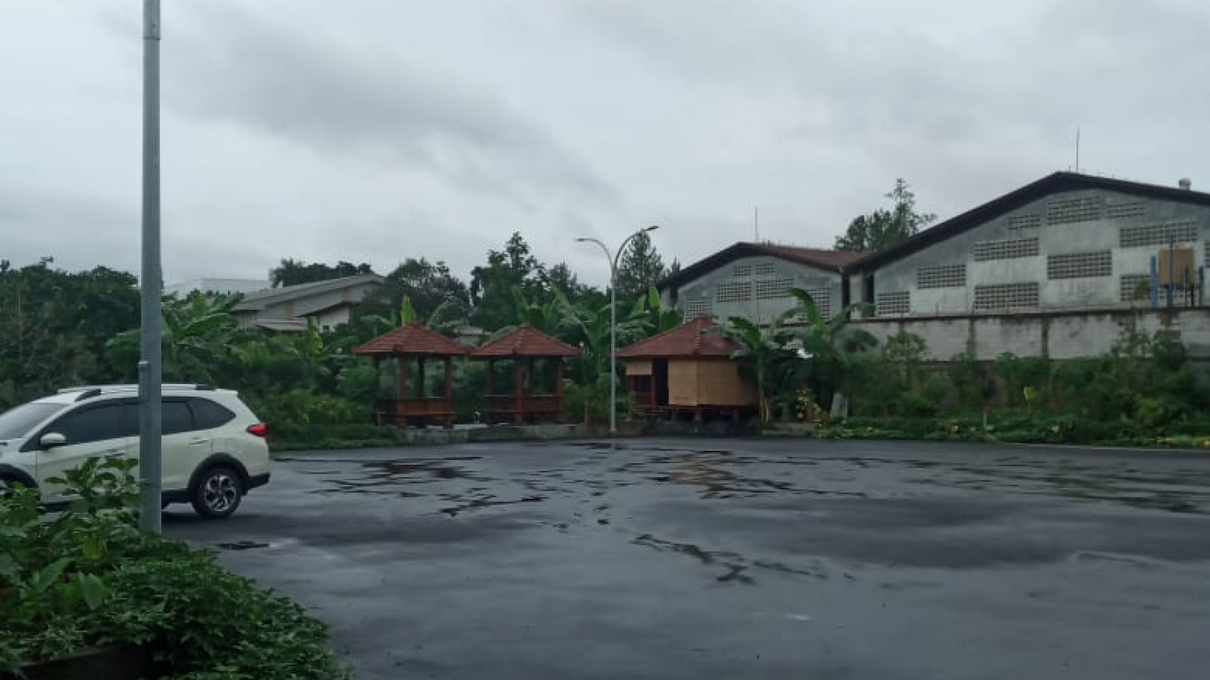
<svg viewBox="0 0 1210 680">
<path fill-rule="evenodd" d="M 298 604 L 227 573 L 214 553 L 134 525 L 133 461 L 92 460 L 54 519 L 38 493 L 0 498 L 0 670 L 90 647 L 148 645 L 180 680 L 330 680 L 346 670 Z"/>
</svg>

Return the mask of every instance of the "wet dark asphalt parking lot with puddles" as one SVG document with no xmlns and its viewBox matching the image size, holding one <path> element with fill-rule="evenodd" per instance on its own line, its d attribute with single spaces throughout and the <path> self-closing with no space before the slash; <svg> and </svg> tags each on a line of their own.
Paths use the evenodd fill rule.
<svg viewBox="0 0 1210 680">
<path fill-rule="evenodd" d="M 1210 454 L 634 440 L 290 455 L 165 531 L 362 680 L 1210 676 Z"/>
</svg>

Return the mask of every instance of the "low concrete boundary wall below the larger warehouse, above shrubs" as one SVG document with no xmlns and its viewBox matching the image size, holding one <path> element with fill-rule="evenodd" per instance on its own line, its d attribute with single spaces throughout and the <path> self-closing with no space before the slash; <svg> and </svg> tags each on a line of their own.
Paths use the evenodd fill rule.
<svg viewBox="0 0 1210 680">
<path fill-rule="evenodd" d="M 1210 359 L 1210 309 L 1094 310 L 1014 314 L 1003 316 L 918 316 L 862 319 L 851 327 L 870 331 L 880 344 L 908 331 L 924 338 L 930 359 L 947 361 L 970 351 L 991 361 L 1006 351 L 1019 356 L 1076 359 L 1105 354 L 1124 327 L 1152 333 L 1177 331 L 1189 355 Z"/>
</svg>

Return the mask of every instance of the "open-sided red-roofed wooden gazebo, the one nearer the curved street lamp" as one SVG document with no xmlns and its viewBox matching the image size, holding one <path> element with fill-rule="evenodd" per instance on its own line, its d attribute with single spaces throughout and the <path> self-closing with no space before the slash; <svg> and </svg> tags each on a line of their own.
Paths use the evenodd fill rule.
<svg viewBox="0 0 1210 680">
<path fill-rule="evenodd" d="M 488 394 L 484 411 L 489 423 L 512 420 L 520 425 L 526 422 L 563 420 L 564 360 L 578 356 L 580 350 L 555 339 L 531 326 L 518 326 L 513 331 L 483 344 L 471 351 L 471 359 L 488 362 Z M 554 384 L 538 384 L 536 372 L 538 360 L 553 361 Z M 512 361 L 512 394 L 496 394 L 496 362 Z"/>
</svg>

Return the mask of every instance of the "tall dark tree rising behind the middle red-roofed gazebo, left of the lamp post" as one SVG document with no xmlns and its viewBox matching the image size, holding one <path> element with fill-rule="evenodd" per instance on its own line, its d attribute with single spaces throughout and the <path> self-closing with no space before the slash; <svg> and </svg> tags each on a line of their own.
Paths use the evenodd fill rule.
<svg viewBox="0 0 1210 680">
<path fill-rule="evenodd" d="M 530 252 L 520 233 L 513 233 L 503 250 L 489 250 L 486 266 L 471 271 L 471 320 L 477 326 L 495 331 L 517 319 L 513 289 L 520 289 L 529 300 L 541 292 L 544 268 Z"/>
</svg>

